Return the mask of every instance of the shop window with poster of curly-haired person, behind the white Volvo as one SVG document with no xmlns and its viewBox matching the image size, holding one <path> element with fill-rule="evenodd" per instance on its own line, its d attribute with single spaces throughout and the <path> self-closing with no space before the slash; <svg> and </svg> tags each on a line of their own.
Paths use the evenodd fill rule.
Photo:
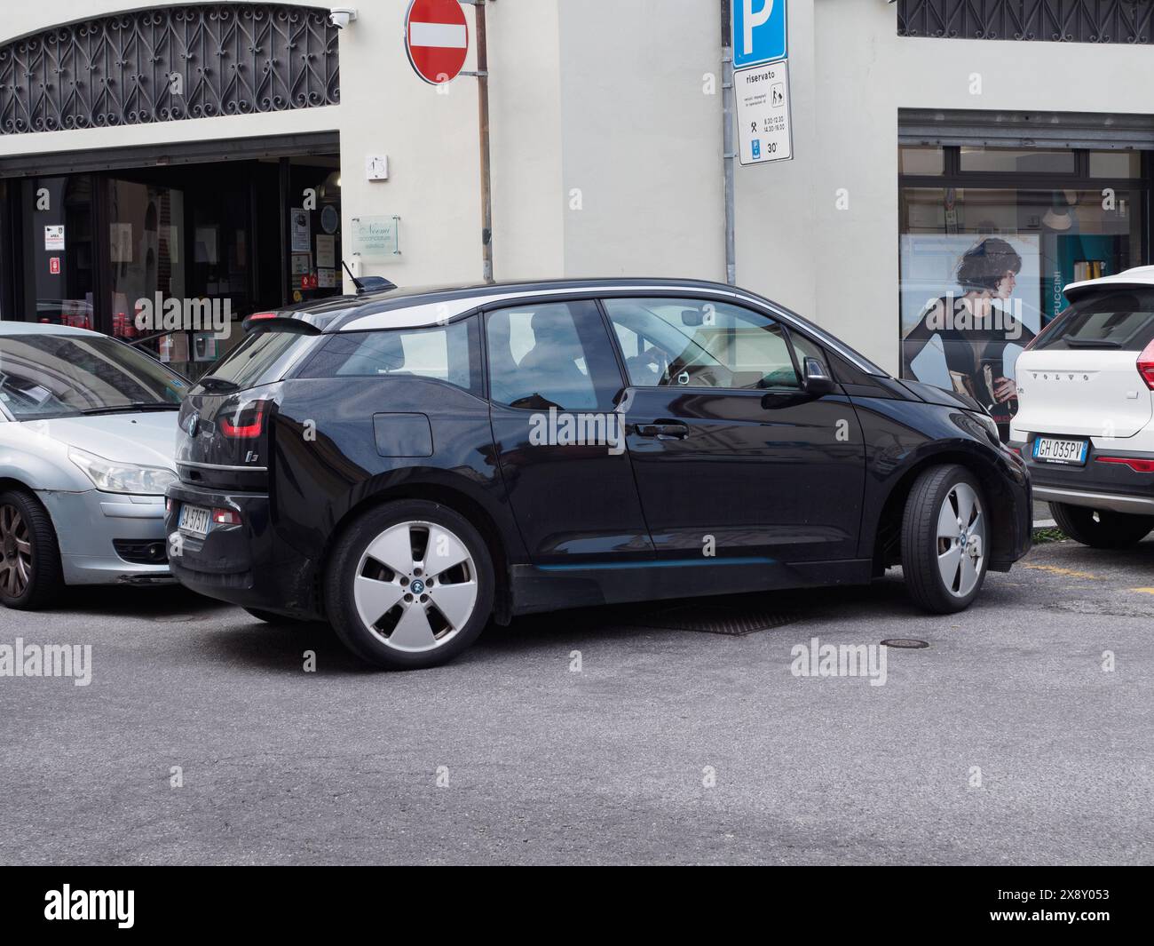
<svg viewBox="0 0 1154 946">
<path fill-rule="evenodd" d="M 1144 260 L 1146 187 L 1140 179 L 1087 186 L 1088 174 L 1048 180 L 1059 166 L 1088 171 L 1092 161 L 1074 151 L 979 158 L 971 149 L 967 164 L 966 150 L 959 167 L 1006 170 L 1012 154 L 1013 165 L 1031 171 L 1018 174 L 1020 187 L 974 186 L 977 176 L 960 172 L 932 186 L 904 176 L 901 371 L 972 395 L 1005 435 L 1018 409 L 1018 355 L 1065 308 L 1063 288 Z"/>
</svg>

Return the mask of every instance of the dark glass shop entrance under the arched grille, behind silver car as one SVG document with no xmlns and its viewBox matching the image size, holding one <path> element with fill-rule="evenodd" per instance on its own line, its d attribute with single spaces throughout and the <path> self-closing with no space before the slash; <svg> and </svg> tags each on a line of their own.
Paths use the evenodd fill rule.
<svg viewBox="0 0 1154 946">
<path fill-rule="evenodd" d="M 331 146 L 179 164 L 155 155 L 0 185 L 0 315 L 96 329 L 192 378 L 240 341 L 246 315 L 340 292 Z"/>
</svg>

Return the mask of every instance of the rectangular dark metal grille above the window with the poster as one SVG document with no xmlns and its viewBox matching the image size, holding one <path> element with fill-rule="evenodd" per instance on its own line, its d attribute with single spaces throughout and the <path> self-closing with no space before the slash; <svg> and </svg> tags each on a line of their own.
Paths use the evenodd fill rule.
<svg viewBox="0 0 1154 946">
<path fill-rule="evenodd" d="M 898 35 L 1145 44 L 1152 16 L 1152 0 L 898 0 Z"/>
</svg>

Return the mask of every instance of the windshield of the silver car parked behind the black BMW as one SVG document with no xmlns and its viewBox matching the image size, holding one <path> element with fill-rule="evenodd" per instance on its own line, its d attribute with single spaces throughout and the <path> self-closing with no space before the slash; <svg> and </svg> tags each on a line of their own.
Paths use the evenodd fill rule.
<svg viewBox="0 0 1154 946">
<path fill-rule="evenodd" d="M 171 410 L 187 387 L 159 362 L 112 338 L 0 336 L 0 403 L 17 420 Z"/>
</svg>

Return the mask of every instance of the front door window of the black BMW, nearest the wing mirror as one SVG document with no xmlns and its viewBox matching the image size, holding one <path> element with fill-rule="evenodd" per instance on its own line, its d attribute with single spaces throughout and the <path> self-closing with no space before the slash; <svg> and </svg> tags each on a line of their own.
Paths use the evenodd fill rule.
<svg viewBox="0 0 1154 946">
<path fill-rule="evenodd" d="M 703 299 L 606 299 L 629 382 L 638 387 L 799 388 L 782 327 Z"/>
</svg>

